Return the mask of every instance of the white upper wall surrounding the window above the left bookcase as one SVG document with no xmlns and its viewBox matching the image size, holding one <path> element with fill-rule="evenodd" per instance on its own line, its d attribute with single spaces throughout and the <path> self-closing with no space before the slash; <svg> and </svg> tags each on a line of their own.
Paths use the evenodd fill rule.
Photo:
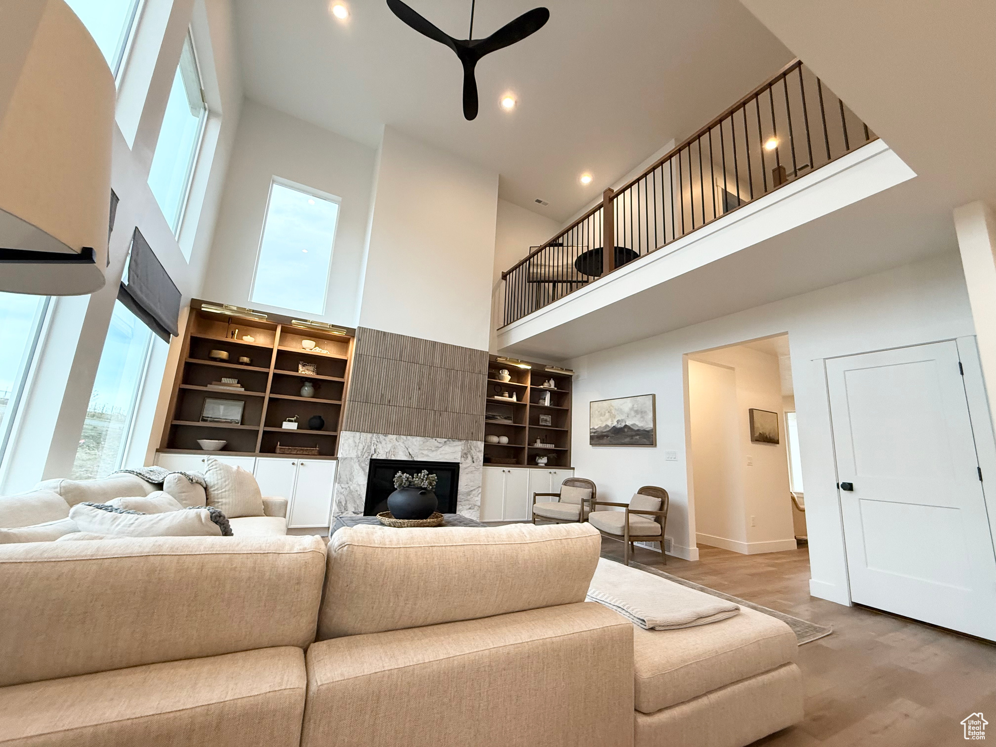
<svg viewBox="0 0 996 747">
<path fill-rule="evenodd" d="M 264 312 L 296 313 L 249 300 L 270 181 L 279 176 L 342 199 L 325 314 L 308 318 L 355 327 L 374 158 L 367 145 L 247 100 L 201 297 Z"/>
</svg>

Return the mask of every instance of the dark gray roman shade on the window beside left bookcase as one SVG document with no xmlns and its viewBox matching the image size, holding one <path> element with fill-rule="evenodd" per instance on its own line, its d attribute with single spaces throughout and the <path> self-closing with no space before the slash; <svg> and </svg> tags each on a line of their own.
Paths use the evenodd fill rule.
<svg viewBox="0 0 996 747">
<path fill-rule="evenodd" d="M 167 343 L 179 335 L 180 292 L 137 228 L 118 300 Z"/>
</svg>

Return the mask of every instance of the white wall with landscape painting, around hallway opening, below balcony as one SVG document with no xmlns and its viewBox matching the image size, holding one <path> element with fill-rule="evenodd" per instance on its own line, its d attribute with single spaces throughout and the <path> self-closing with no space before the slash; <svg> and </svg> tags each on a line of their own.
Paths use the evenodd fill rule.
<svg viewBox="0 0 996 747">
<path fill-rule="evenodd" d="M 697 557 L 686 462 L 685 354 L 789 334 L 799 417 L 814 596 L 849 603 L 844 538 L 823 359 L 974 334 L 959 258 L 929 260 L 785 299 L 570 362 L 574 390 L 573 460 L 579 477 L 610 501 L 640 485 L 671 495 L 667 535 L 674 552 Z M 588 403 L 655 392 L 656 448 L 593 448 Z M 677 461 L 663 459 L 674 449 Z"/>
</svg>

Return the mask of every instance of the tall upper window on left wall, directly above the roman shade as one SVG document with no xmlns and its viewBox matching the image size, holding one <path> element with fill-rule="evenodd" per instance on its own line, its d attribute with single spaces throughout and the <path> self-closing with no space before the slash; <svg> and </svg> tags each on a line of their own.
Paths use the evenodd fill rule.
<svg viewBox="0 0 996 747">
<path fill-rule="evenodd" d="M 201 93 L 197 55 L 187 33 L 148 172 L 148 186 L 174 233 L 183 218 L 206 121 L 207 105 Z"/>
</svg>

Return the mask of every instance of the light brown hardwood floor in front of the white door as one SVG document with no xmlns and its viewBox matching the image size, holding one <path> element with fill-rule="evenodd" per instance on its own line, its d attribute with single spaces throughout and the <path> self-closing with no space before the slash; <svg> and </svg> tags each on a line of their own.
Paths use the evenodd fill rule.
<svg viewBox="0 0 996 747">
<path fill-rule="evenodd" d="M 622 543 L 603 550 L 622 560 Z M 809 595 L 809 552 L 739 555 L 700 547 L 697 562 L 636 549 L 633 560 L 834 633 L 799 647 L 806 718 L 755 747 L 940 747 L 965 744 L 982 711 L 996 740 L 996 645 Z M 991 715 L 990 715 L 991 714 Z"/>
</svg>

